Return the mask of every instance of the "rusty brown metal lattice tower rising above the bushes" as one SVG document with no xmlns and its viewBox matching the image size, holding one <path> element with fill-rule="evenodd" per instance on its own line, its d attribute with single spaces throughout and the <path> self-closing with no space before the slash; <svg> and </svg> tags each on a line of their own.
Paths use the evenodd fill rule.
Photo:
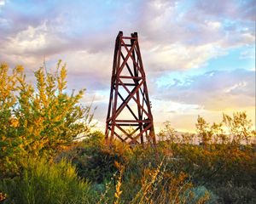
<svg viewBox="0 0 256 204">
<path fill-rule="evenodd" d="M 105 137 L 110 143 L 117 138 L 128 144 L 155 144 L 137 32 L 124 37 L 119 31 L 116 37 Z"/>
</svg>

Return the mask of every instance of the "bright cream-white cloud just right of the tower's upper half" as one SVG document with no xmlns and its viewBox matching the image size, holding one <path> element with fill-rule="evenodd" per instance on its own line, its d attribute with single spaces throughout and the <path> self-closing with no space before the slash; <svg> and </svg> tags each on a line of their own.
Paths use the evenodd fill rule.
<svg viewBox="0 0 256 204">
<path fill-rule="evenodd" d="M 163 47 L 145 51 L 145 61 L 150 71 L 187 70 L 199 68 L 206 64 L 208 59 L 226 54 L 223 49 L 212 43 L 199 46 L 172 43 Z"/>
</svg>

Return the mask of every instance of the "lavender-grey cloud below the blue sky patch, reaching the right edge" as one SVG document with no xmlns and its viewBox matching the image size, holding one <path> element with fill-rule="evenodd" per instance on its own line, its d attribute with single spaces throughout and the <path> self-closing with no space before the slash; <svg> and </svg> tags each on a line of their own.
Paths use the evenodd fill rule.
<svg viewBox="0 0 256 204">
<path fill-rule="evenodd" d="M 255 105 L 255 71 L 211 71 L 159 87 L 157 99 L 224 111 Z M 160 91 L 161 90 L 161 91 Z M 164 94 L 163 94 L 164 93 Z"/>
</svg>

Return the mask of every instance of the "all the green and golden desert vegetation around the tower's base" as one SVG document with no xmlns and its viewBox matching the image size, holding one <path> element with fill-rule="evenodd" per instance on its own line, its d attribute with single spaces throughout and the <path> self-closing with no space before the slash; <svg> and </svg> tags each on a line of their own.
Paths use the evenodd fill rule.
<svg viewBox="0 0 256 204">
<path fill-rule="evenodd" d="M 155 148 L 90 130 L 84 91 L 67 92 L 66 66 L 35 71 L 0 65 L 0 202 L 255 203 L 255 131 L 245 112 L 178 135 L 166 122 Z M 75 140 L 85 136 L 83 141 Z M 201 144 L 195 144 L 199 141 Z"/>
</svg>

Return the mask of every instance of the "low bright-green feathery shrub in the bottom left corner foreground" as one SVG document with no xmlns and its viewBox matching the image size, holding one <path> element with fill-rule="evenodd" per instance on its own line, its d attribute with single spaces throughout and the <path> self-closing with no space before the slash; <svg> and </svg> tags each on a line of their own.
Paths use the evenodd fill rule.
<svg viewBox="0 0 256 204">
<path fill-rule="evenodd" d="M 92 203 L 90 184 L 77 176 L 75 167 L 62 160 L 49 163 L 30 160 L 21 177 L 0 182 L 5 203 Z"/>
</svg>

